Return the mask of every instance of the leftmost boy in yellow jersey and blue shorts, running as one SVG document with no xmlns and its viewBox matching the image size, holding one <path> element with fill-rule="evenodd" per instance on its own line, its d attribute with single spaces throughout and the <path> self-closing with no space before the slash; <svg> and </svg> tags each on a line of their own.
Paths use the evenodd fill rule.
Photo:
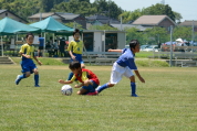
<svg viewBox="0 0 197 131">
<path fill-rule="evenodd" d="M 27 44 L 23 44 L 19 51 L 19 54 L 22 57 L 21 68 L 22 75 L 18 75 L 15 79 L 15 85 L 19 85 L 20 80 L 29 77 L 32 73 L 34 73 L 34 86 L 39 86 L 39 72 L 33 63 L 33 58 L 38 62 L 39 65 L 42 65 L 40 61 L 38 61 L 37 56 L 34 56 L 34 46 L 33 43 L 34 35 L 32 33 L 27 34 Z"/>
</svg>

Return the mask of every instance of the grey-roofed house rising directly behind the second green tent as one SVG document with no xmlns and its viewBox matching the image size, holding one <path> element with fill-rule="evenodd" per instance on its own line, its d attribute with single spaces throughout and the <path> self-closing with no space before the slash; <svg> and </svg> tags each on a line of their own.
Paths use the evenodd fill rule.
<svg viewBox="0 0 197 131">
<path fill-rule="evenodd" d="M 28 19 L 31 22 L 38 22 L 40 20 L 46 19 L 48 17 L 53 17 L 55 20 L 58 20 L 61 23 L 76 22 L 81 24 L 83 29 L 86 29 L 86 19 L 85 17 L 81 14 L 63 13 L 63 12 L 48 12 L 48 13 L 37 13 L 37 14 L 29 17 Z"/>
</svg>

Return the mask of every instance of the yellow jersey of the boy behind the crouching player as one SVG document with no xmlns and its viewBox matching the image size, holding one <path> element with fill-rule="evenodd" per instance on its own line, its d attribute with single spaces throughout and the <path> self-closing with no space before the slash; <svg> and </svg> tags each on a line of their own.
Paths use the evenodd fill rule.
<svg viewBox="0 0 197 131">
<path fill-rule="evenodd" d="M 72 51 L 75 54 L 83 53 L 83 41 L 71 41 L 69 43 L 68 51 Z"/>
</svg>

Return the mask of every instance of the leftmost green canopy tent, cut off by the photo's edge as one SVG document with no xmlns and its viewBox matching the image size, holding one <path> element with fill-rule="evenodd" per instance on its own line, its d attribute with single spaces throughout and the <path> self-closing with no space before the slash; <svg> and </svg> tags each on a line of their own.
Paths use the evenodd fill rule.
<svg viewBox="0 0 197 131">
<path fill-rule="evenodd" d="M 41 32 L 40 29 L 33 28 L 10 18 L 4 18 L 0 20 L 0 35 L 1 35 L 1 53 L 3 56 L 3 45 L 2 45 L 2 35 L 15 35 L 27 32 Z"/>
</svg>

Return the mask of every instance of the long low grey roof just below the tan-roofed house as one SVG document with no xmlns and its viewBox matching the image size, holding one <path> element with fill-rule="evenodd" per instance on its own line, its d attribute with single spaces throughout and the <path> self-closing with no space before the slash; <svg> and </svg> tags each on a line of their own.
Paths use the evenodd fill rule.
<svg viewBox="0 0 197 131">
<path fill-rule="evenodd" d="M 142 26 L 142 25 L 133 25 L 133 24 L 111 24 L 112 26 L 121 30 L 121 26 L 122 29 L 128 29 L 128 28 L 136 28 L 138 29 L 138 31 L 145 31 L 146 29 L 152 29 L 152 26 Z"/>
</svg>

